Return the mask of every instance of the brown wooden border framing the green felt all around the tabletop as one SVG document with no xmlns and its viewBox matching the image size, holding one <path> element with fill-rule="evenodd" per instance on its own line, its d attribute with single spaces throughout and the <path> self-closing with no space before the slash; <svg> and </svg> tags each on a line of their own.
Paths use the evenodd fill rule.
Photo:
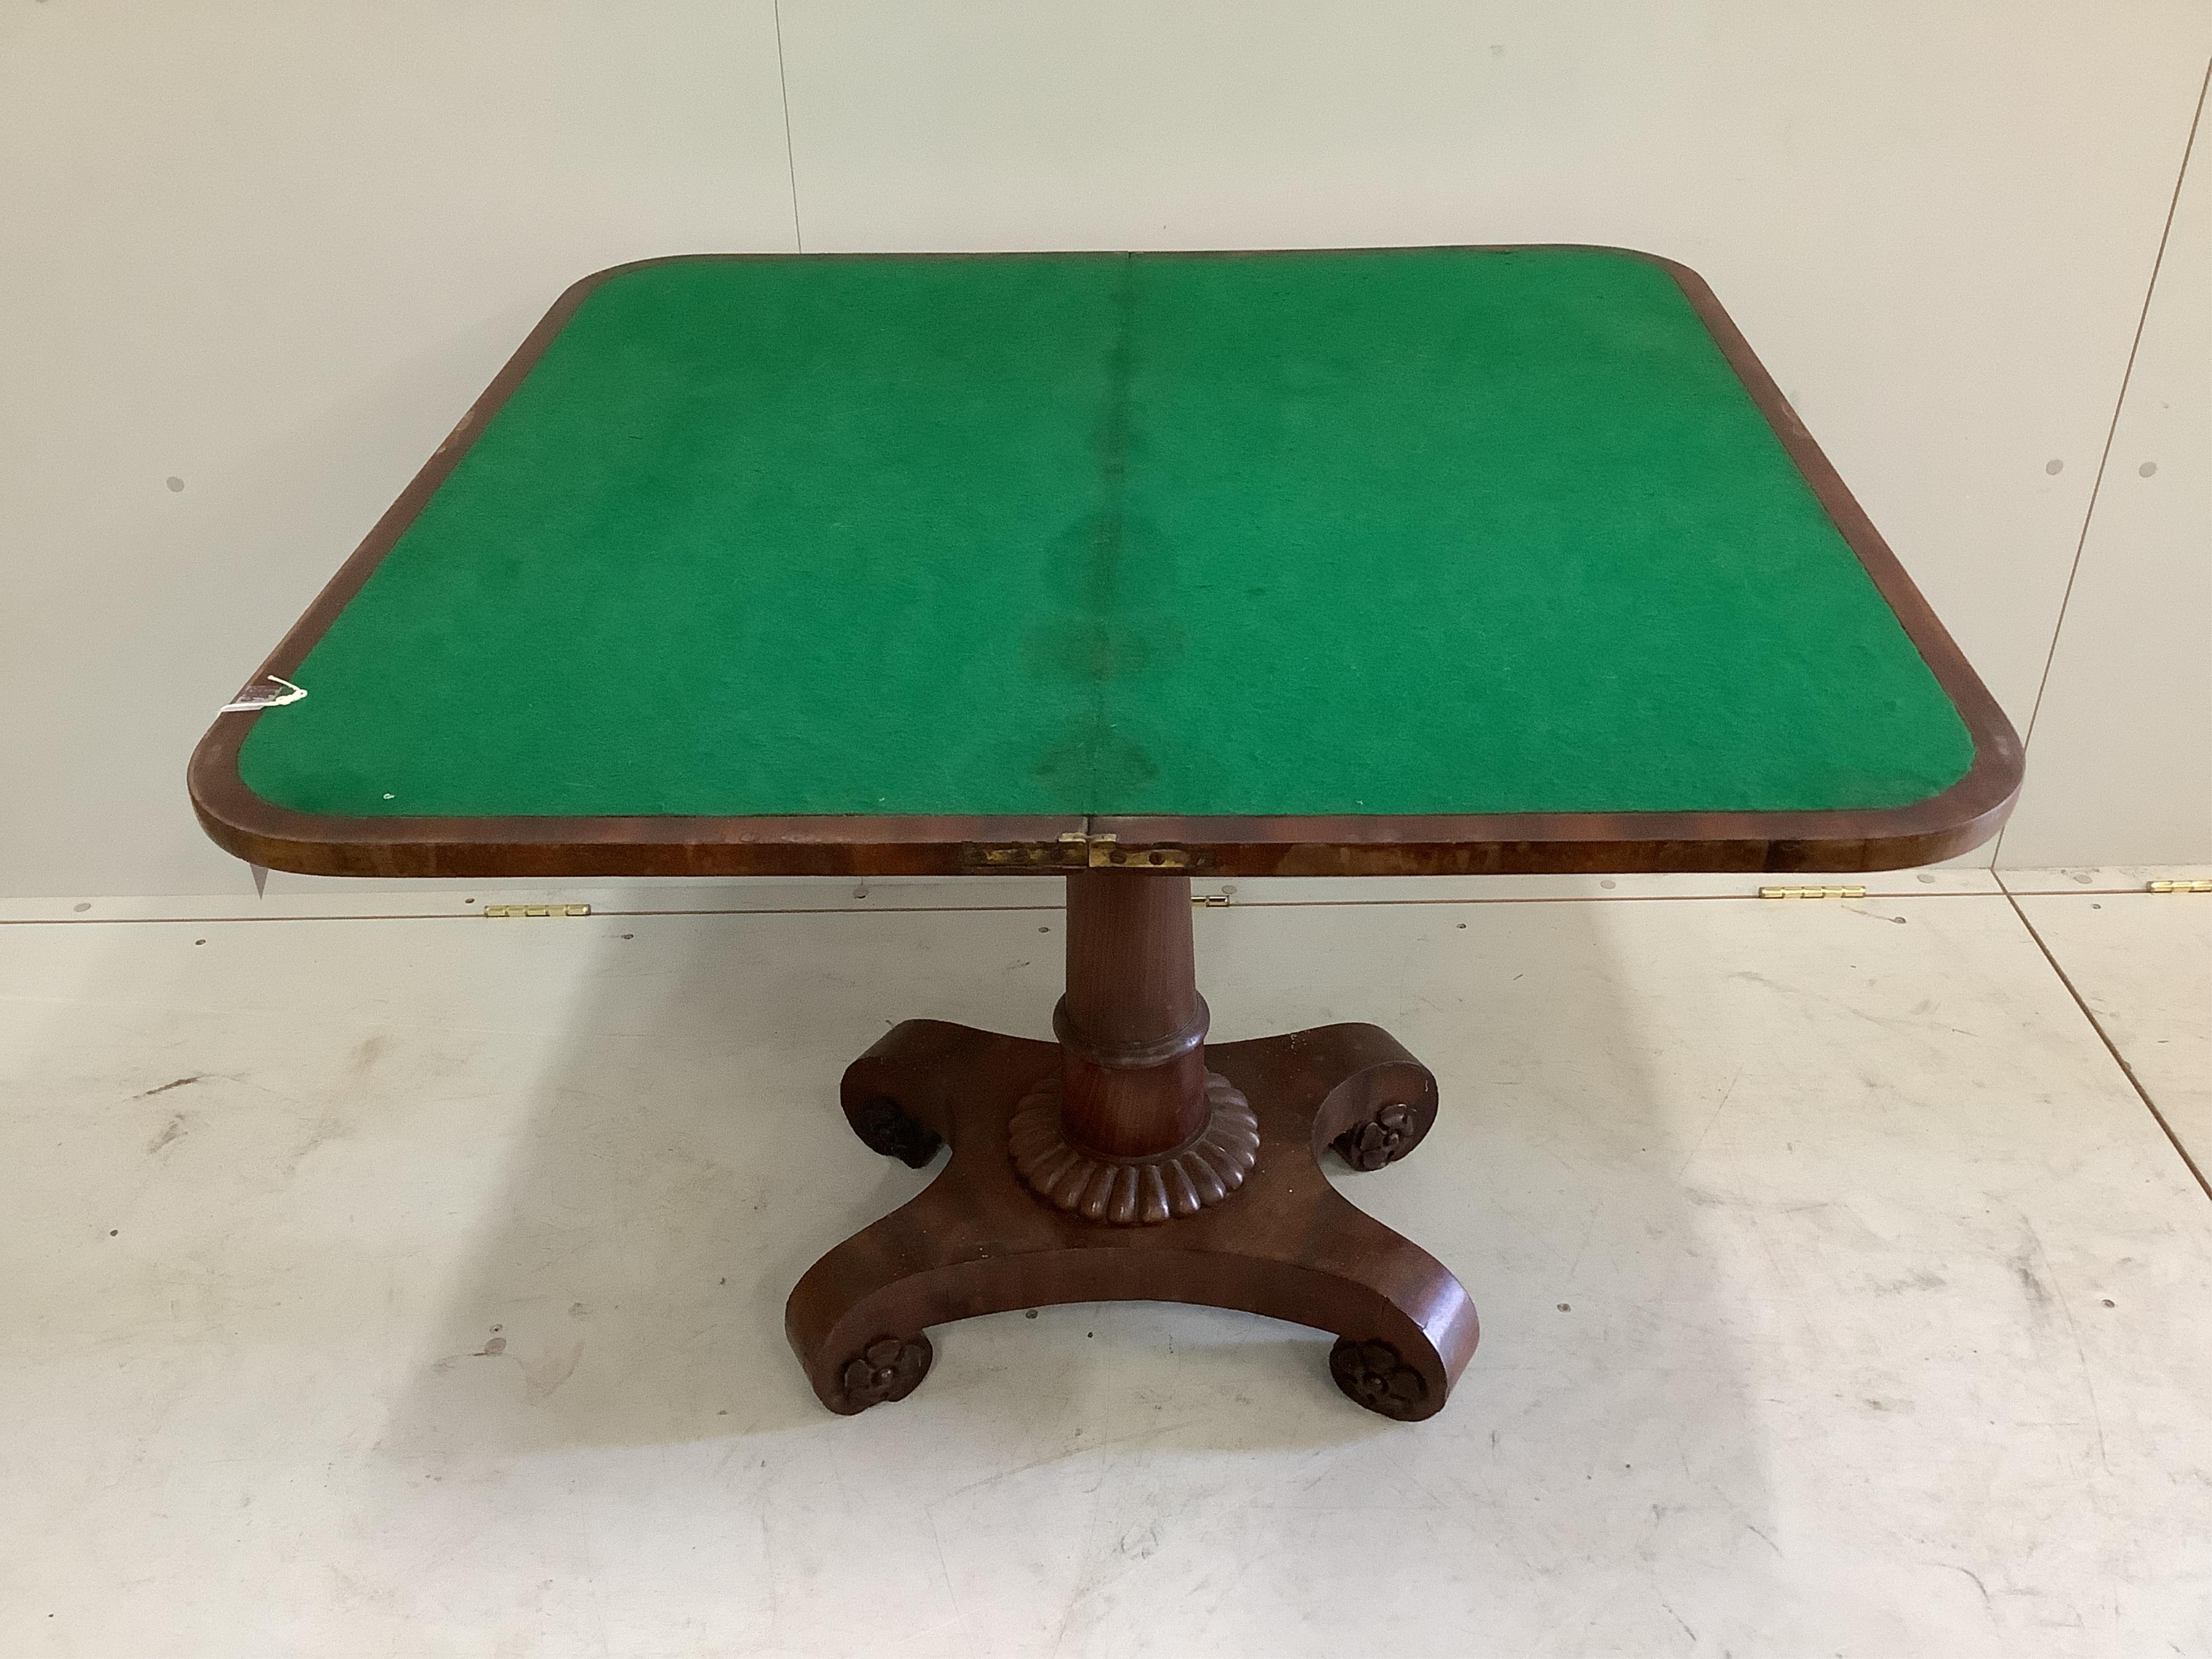
<svg viewBox="0 0 2212 1659">
<path fill-rule="evenodd" d="M 1898 869 L 1989 841 L 2020 792 L 2022 745 L 1920 588 L 1759 363 L 1712 288 L 1637 248 L 1473 243 L 1436 252 L 1588 248 L 1666 270 L 1712 332 L 1798 473 L 1889 602 L 1973 739 L 1951 787 L 1900 807 L 1834 812 L 1559 812 L 1425 816 L 338 816 L 274 805 L 246 787 L 239 748 L 261 712 L 228 712 L 192 752 L 192 810 L 226 852 L 312 876 L 951 876 L 1093 867 L 1095 843 L 1217 876 L 1458 876 L 1573 872 Z M 1079 252 L 1079 250 L 1071 250 Z M 1095 250 L 1104 252 L 1104 250 Z M 1175 257 L 1407 250 L 1148 250 Z M 376 520 L 261 675 L 290 679 L 447 480 L 591 292 L 624 272 L 752 259 L 1035 259 L 1040 254 L 670 254 L 573 283 Z M 1048 254 L 1046 254 L 1048 257 Z"/>
</svg>

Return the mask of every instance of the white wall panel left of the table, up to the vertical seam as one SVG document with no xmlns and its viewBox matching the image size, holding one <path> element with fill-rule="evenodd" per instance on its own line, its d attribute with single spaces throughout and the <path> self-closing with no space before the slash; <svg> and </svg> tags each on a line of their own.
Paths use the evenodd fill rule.
<svg viewBox="0 0 2212 1659">
<path fill-rule="evenodd" d="M 250 891 L 186 757 L 538 314 L 790 246 L 768 0 L 7 4 L 0 891 Z"/>
</svg>

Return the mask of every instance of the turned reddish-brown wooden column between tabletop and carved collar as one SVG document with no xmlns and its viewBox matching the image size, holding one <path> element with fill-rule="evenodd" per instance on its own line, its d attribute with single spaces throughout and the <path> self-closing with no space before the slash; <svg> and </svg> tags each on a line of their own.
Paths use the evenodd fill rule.
<svg viewBox="0 0 2212 1659">
<path fill-rule="evenodd" d="M 1068 876 L 1068 991 L 1053 1033 L 1071 1146 L 1150 1159 L 1206 1128 L 1206 998 L 1188 876 Z"/>
</svg>

